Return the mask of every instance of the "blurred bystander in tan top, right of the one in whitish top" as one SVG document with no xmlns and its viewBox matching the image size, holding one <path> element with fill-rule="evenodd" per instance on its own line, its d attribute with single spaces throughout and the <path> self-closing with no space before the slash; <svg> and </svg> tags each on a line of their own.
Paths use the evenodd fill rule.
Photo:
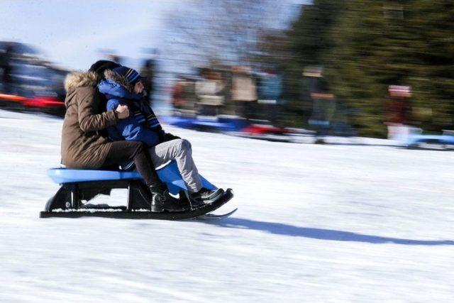
<svg viewBox="0 0 454 303">
<path fill-rule="evenodd" d="M 250 67 L 232 67 L 231 89 L 231 99 L 236 104 L 237 113 L 245 119 L 250 119 L 253 104 L 257 103 L 257 87 Z"/>
</svg>

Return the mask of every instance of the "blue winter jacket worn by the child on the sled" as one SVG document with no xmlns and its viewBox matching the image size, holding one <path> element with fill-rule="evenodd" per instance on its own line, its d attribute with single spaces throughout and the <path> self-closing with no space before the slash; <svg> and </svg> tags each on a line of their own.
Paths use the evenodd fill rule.
<svg viewBox="0 0 454 303">
<path fill-rule="evenodd" d="M 142 96 L 128 92 L 123 85 L 113 79 L 104 79 L 98 84 L 98 89 L 108 99 L 107 111 L 115 111 L 120 104 L 129 108 L 128 118 L 120 119 L 115 126 L 107 128 L 112 140 L 141 141 L 148 147 L 160 143 L 160 138 L 165 133 L 150 105 Z"/>
</svg>

